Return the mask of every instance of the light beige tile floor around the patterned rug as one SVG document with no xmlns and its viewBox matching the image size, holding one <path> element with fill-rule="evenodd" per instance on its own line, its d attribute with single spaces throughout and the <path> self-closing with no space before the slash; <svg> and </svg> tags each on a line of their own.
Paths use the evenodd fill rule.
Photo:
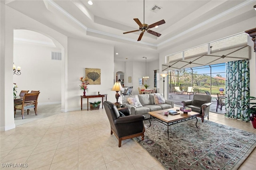
<svg viewBox="0 0 256 170">
<path fill-rule="evenodd" d="M 20 125 L 0 132 L 1 169 L 165 169 L 133 139 L 122 141 L 122 146 L 118 148 L 118 140 L 110 135 L 110 124 L 104 109 L 67 113 L 51 111 L 58 108 L 60 105 L 40 106 L 38 115 L 44 118 L 30 111 L 30 115 L 25 115 L 22 120 L 24 124 L 20 121 L 19 112 L 17 113 L 15 123 Z M 210 113 L 210 121 L 256 133 L 250 122 L 228 119 L 221 114 Z M 240 170 L 252 170 L 256 165 L 255 160 L 256 150 Z M 23 163 L 28 167 L 4 168 L 2 163 Z"/>
</svg>

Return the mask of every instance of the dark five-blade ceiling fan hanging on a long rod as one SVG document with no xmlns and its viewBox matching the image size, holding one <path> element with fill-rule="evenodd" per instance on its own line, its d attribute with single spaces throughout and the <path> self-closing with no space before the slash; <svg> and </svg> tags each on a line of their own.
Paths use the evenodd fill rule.
<svg viewBox="0 0 256 170">
<path fill-rule="evenodd" d="M 143 24 L 140 22 L 140 20 L 139 20 L 138 18 L 134 18 L 133 20 L 140 26 L 139 29 L 134 30 L 134 31 L 128 31 L 128 32 L 123 33 L 123 34 L 126 34 L 126 33 L 132 33 L 132 32 L 136 32 L 136 31 L 142 31 L 142 32 L 140 33 L 140 36 L 139 36 L 139 38 L 138 38 L 137 41 L 140 41 L 140 40 L 141 40 L 141 38 L 142 38 L 142 36 L 143 36 L 143 34 L 144 34 L 145 31 L 147 31 L 148 33 L 150 33 L 150 34 L 152 34 L 152 35 L 155 35 L 155 36 L 157 36 L 157 37 L 160 37 L 160 35 L 161 35 L 160 33 L 157 33 L 157 32 L 155 32 L 155 31 L 152 31 L 152 30 L 150 30 L 150 28 L 153 28 L 153 27 L 155 27 L 155 26 L 158 26 L 158 25 L 161 25 L 161 24 L 164 24 L 164 23 L 165 23 L 164 20 L 161 20 L 161 21 L 158 21 L 158 22 L 153 23 L 153 24 L 151 24 L 151 25 L 146 24 L 146 23 L 145 23 L 145 0 L 143 0 L 143 5 L 144 5 L 144 8 L 143 8 L 143 12 L 144 12 Z"/>
</svg>

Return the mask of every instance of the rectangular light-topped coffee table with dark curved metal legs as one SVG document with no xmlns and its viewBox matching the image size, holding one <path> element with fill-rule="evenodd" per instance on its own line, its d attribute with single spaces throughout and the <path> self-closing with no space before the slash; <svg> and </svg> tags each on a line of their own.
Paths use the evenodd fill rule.
<svg viewBox="0 0 256 170">
<path fill-rule="evenodd" d="M 159 121 L 161 123 L 163 123 L 164 125 L 167 125 L 167 137 L 169 139 L 169 125 L 173 125 L 176 123 L 180 123 L 182 121 L 187 121 L 190 119 L 194 119 L 196 118 L 196 127 L 197 127 L 197 122 L 198 119 L 196 117 L 196 115 L 199 115 L 199 113 L 194 112 L 194 111 L 190 111 L 188 113 L 183 113 L 183 111 L 179 111 L 180 114 L 178 115 L 164 115 L 164 112 L 168 111 L 168 110 L 175 110 L 176 109 L 180 109 L 179 107 L 174 107 L 171 109 L 164 109 L 164 110 L 158 110 L 158 111 L 150 111 L 148 112 L 148 114 L 150 114 L 150 118 L 149 118 L 149 127 L 151 126 L 151 122 L 150 119 L 155 119 L 156 121 Z M 197 127 L 198 128 L 198 127 Z"/>
</svg>

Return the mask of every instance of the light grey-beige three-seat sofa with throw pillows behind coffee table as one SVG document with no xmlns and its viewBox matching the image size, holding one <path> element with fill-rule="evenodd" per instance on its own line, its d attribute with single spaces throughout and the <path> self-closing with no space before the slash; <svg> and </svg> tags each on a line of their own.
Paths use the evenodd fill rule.
<svg viewBox="0 0 256 170">
<path fill-rule="evenodd" d="M 138 96 L 142 107 L 134 107 L 129 104 L 127 98 L 132 96 Z M 144 115 L 146 118 L 149 119 L 150 115 L 148 112 L 150 111 L 157 111 L 163 109 L 170 109 L 174 107 L 173 101 L 165 100 L 164 104 L 155 104 L 154 94 L 138 94 L 138 95 L 131 95 L 131 96 L 124 96 L 125 107 L 130 109 L 130 113 L 132 115 Z"/>
</svg>

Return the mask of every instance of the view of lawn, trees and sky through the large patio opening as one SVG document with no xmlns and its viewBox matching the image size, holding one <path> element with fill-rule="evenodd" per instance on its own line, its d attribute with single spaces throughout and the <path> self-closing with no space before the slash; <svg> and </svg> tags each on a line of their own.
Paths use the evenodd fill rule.
<svg viewBox="0 0 256 170">
<path fill-rule="evenodd" d="M 208 91 L 217 94 L 220 88 L 225 89 L 225 70 L 225 63 L 170 70 L 169 92 L 174 92 L 174 87 L 179 86 L 185 92 L 188 87 L 193 87 L 196 93 Z"/>
</svg>

